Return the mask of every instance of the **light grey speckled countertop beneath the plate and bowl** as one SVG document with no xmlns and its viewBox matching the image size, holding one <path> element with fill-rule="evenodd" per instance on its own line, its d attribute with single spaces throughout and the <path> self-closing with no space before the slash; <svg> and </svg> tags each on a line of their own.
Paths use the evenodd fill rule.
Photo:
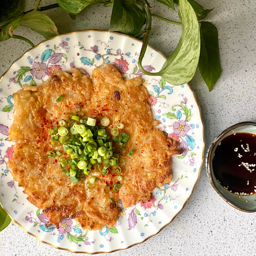
<svg viewBox="0 0 256 256">
<path fill-rule="evenodd" d="M 27 1 L 29 2 L 29 1 Z M 35 2 L 35 1 L 30 1 Z M 43 5 L 54 1 L 42 1 Z M 256 121 L 256 2 L 253 0 L 198 0 L 214 8 L 208 20 L 219 33 L 222 74 L 209 92 L 199 72 L 190 82 L 201 107 L 206 149 L 221 131 L 242 121 Z M 154 1 L 151 1 L 154 5 Z M 32 4 L 31 6 L 32 7 Z M 28 8 L 29 8 L 28 7 Z M 75 23 L 58 9 L 47 11 L 59 33 L 77 29 L 108 29 L 110 8 L 85 9 Z M 157 7 L 165 17 L 172 10 Z M 83 16 L 83 17 L 82 17 Z M 149 44 L 169 55 L 180 36 L 177 26 L 153 19 Z M 43 38 L 29 29 L 19 29 L 38 44 Z M 20 57 L 29 45 L 17 40 L 0 43 L 0 75 Z M 117 255 L 256 255 L 256 214 L 240 212 L 225 203 L 213 190 L 203 166 L 195 190 L 184 209 L 171 224 L 142 244 L 111 253 Z M 11 223 L 0 233 L 0 256 L 67 256 L 68 251 L 44 244 Z M 82 254 L 81 254 L 82 255 Z"/>
</svg>

